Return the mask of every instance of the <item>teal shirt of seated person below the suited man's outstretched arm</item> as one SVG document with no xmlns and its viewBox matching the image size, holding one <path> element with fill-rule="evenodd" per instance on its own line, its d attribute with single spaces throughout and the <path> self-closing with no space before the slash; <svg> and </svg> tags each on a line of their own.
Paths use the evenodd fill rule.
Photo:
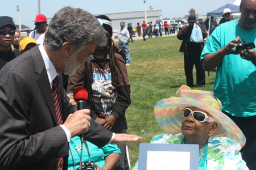
<svg viewBox="0 0 256 170">
<path fill-rule="evenodd" d="M 76 146 L 80 146 L 81 145 L 81 140 L 80 137 L 74 137 L 71 139 L 72 142 L 69 142 L 69 148 L 71 149 L 72 155 L 73 155 L 73 159 L 75 160 L 75 165 L 73 163 L 72 160 L 72 156 L 71 156 L 71 152 L 69 150 L 69 157 L 68 157 L 68 170 L 76 170 L 76 168 L 80 167 L 80 156 L 81 156 L 81 150 L 77 151 L 75 149 Z M 94 161 L 94 163 L 96 163 L 99 167 L 103 167 L 105 164 L 105 157 L 110 155 L 111 153 L 121 153 L 119 148 L 117 147 L 117 145 L 105 145 L 104 147 L 97 147 L 96 145 L 94 145 L 93 143 L 90 143 L 88 141 L 86 141 L 88 148 L 89 148 L 89 152 L 90 155 L 92 155 L 92 159 Z M 82 147 L 82 162 L 83 163 L 88 163 L 89 162 L 89 155 L 88 155 L 88 151 L 86 150 L 85 145 L 83 145 Z M 92 160 L 90 160 L 91 163 Z M 96 169 L 96 168 L 95 168 Z"/>
</svg>

